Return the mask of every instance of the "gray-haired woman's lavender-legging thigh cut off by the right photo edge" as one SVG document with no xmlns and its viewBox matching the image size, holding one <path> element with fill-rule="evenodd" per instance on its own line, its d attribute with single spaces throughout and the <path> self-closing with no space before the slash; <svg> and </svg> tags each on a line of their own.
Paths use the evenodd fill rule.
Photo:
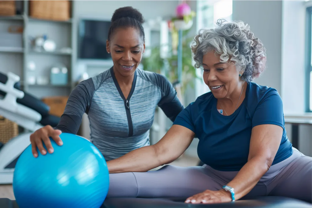
<svg viewBox="0 0 312 208">
<path fill-rule="evenodd" d="M 285 196 L 311 202 L 312 158 L 300 156 L 270 182 L 271 196 Z"/>
</svg>

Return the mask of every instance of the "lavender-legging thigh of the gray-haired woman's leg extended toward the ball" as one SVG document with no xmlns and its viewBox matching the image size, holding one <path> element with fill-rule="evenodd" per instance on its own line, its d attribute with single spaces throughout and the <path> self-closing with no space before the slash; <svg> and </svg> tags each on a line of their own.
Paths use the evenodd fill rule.
<svg viewBox="0 0 312 208">
<path fill-rule="evenodd" d="M 138 183 L 138 197 L 189 197 L 222 187 L 207 175 L 207 169 L 198 166 L 167 165 L 157 171 L 135 172 L 134 175 Z"/>
</svg>

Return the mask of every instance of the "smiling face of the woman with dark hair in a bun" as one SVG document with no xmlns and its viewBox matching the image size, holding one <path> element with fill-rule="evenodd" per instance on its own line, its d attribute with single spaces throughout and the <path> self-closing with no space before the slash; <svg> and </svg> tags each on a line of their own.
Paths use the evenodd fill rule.
<svg viewBox="0 0 312 208">
<path fill-rule="evenodd" d="M 106 41 L 106 50 L 112 56 L 115 73 L 127 77 L 133 75 L 141 63 L 145 44 L 136 29 L 118 28 L 110 42 Z"/>
</svg>

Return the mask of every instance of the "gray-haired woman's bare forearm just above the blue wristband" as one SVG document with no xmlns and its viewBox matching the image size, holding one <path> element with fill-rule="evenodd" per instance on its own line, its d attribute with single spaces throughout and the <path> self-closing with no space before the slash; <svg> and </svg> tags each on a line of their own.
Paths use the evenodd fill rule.
<svg viewBox="0 0 312 208">
<path fill-rule="evenodd" d="M 236 177 L 227 184 L 234 188 L 235 200 L 249 193 L 267 171 L 267 160 L 261 157 L 250 159 L 237 173 Z"/>
</svg>

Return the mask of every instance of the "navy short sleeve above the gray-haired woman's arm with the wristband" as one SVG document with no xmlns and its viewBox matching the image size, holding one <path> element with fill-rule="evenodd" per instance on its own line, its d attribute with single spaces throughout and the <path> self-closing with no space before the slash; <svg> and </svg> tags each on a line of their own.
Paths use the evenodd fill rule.
<svg viewBox="0 0 312 208">
<path fill-rule="evenodd" d="M 274 124 L 284 128 L 283 102 L 275 90 L 266 93 L 253 114 L 252 128 L 262 124 Z"/>
</svg>

